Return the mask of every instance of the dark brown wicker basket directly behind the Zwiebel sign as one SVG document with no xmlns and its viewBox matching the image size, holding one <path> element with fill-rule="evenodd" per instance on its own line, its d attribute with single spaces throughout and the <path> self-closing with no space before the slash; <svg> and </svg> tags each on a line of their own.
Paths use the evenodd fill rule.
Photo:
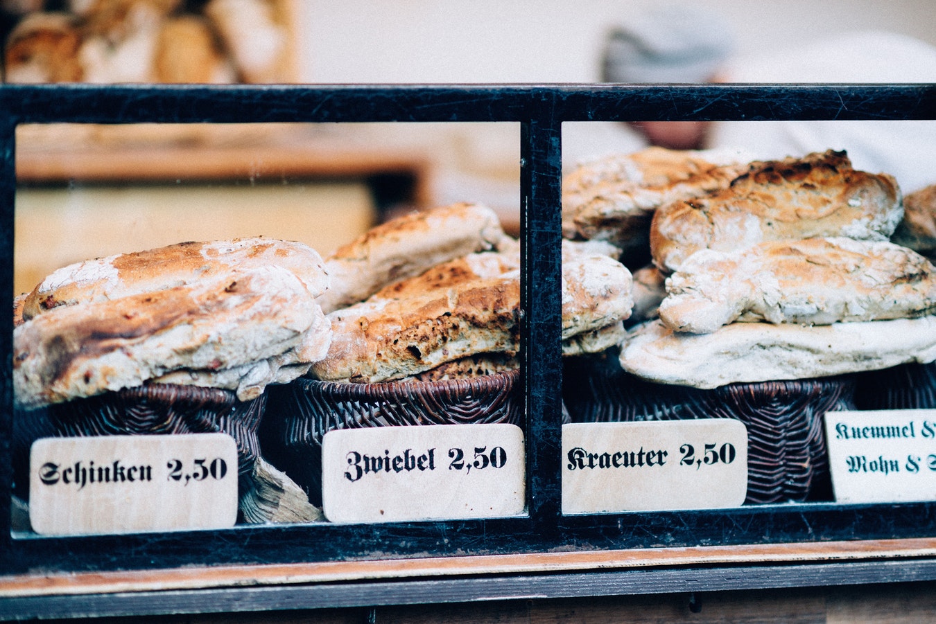
<svg viewBox="0 0 936 624">
<path fill-rule="evenodd" d="M 321 505 L 322 439 L 333 429 L 521 424 L 519 370 L 436 382 L 341 384 L 299 379 L 268 389 L 264 457 Z"/>
</svg>

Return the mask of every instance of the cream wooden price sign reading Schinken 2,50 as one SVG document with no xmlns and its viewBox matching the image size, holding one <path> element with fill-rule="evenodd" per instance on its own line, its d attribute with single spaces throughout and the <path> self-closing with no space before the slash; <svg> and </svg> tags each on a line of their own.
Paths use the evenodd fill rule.
<svg viewBox="0 0 936 624">
<path fill-rule="evenodd" d="M 30 523 L 45 535 L 224 529 L 237 520 L 237 469 L 224 433 L 43 438 Z"/>
</svg>

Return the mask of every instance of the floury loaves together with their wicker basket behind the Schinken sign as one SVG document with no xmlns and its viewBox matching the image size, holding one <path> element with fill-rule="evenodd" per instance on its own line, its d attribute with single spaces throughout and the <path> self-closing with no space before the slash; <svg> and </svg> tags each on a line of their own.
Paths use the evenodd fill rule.
<svg viewBox="0 0 936 624">
<path fill-rule="evenodd" d="M 257 490 L 289 486 L 261 463 L 257 429 L 266 387 L 328 351 L 329 322 L 315 302 L 328 284 L 319 254 L 275 239 L 188 242 L 56 270 L 14 312 L 22 442 L 50 428 L 224 431 L 238 444 L 244 520 L 313 514 L 304 501 L 278 509 L 278 495 Z"/>
</svg>

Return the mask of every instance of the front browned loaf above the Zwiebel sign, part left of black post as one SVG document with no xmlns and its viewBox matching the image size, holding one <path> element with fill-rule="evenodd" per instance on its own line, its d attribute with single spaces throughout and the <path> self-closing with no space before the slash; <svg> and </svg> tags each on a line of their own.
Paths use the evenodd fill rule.
<svg viewBox="0 0 936 624">
<path fill-rule="evenodd" d="M 442 270 L 436 275 L 446 275 Z M 326 381 L 377 383 L 416 375 L 463 356 L 514 354 L 519 348 L 519 271 L 446 286 L 436 275 L 425 292 L 378 293 L 331 312 L 329 354 L 311 374 Z"/>
</svg>

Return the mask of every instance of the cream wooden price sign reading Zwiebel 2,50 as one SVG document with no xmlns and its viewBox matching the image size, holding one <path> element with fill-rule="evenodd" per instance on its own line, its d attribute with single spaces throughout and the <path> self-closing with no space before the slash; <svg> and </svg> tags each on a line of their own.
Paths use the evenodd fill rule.
<svg viewBox="0 0 936 624">
<path fill-rule="evenodd" d="M 398 522 L 523 513 L 523 432 L 515 425 L 329 431 L 322 505 L 331 522 Z"/>
</svg>

